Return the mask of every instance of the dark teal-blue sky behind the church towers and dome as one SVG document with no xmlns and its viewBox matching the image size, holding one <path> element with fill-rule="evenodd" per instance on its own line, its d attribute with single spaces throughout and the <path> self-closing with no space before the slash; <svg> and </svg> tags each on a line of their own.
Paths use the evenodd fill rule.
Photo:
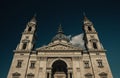
<svg viewBox="0 0 120 78">
<path fill-rule="evenodd" d="M 0 1 L 0 78 L 6 78 L 13 50 L 27 22 L 37 14 L 37 46 L 48 44 L 62 24 L 66 35 L 82 33 L 83 12 L 94 23 L 107 49 L 114 78 L 120 77 L 119 0 L 4 0 Z"/>
</svg>

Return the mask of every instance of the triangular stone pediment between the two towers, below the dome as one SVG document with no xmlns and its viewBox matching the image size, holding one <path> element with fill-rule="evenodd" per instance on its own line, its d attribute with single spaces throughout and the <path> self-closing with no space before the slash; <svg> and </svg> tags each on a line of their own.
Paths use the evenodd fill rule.
<svg viewBox="0 0 120 78">
<path fill-rule="evenodd" d="M 37 48 L 37 50 L 82 50 L 68 43 L 50 43 L 47 46 Z"/>
</svg>

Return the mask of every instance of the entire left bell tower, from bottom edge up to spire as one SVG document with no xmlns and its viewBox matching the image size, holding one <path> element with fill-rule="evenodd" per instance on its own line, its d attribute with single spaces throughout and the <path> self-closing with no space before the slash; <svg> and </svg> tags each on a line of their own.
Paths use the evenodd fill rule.
<svg viewBox="0 0 120 78">
<path fill-rule="evenodd" d="M 33 52 L 36 39 L 36 16 L 27 23 L 20 43 L 14 50 L 14 56 L 7 78 L 26 78 L 30 55 Z"/>
</svg>

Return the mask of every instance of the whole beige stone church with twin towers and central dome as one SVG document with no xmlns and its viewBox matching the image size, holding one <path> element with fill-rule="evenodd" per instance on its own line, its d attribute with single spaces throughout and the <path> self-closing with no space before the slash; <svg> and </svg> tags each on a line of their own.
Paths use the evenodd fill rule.
<svg viewBox="0 0 120 78">
<path fill-rule="evenodd" d="M 7 78 L 113 78 L 107 57 L 93 23 L 84 16 L 84 45 L 74 46 L 61 25 L 51 42 L 34 48 L 35 16 L 27 23 Z M 49 34 L 48 34 L 49 35 Z"/>
</svg>

